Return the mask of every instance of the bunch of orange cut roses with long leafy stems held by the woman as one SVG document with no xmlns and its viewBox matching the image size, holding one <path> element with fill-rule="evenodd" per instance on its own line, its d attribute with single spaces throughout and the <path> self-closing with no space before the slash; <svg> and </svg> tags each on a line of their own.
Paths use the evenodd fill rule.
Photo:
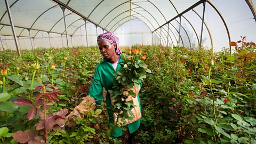
<svg viewBox="0 0 256 144">
<path fill-rule="evenodd" d="M 113 74 L 116 78 L 109 93 L 115 124 L 121 120 L 123 125 L 126 125 L 127 122 L 124 120 L 132 120 L 134 115 L 131 110 L 137 107 L 131 98 L 137 99 L 140 83 L 146 78 L 146 73 L 151 73 L 151 70 L 143 61 L 146 55 L 141 55 L 141 50 L 130 49 L 127 54 L 121 54 L 121 59 L 123 60 L 119 62 L 121 68 Z"/>
</svg>

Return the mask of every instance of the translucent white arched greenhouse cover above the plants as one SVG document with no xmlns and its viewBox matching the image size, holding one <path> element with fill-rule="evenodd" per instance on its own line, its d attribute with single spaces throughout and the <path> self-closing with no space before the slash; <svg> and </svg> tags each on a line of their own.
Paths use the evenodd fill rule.
<svg viewBox="0 0 256 144">
<path fill-rule="evenodd" d="M 21 49 L 96 45 L 105 31 L 126 46 L 179 41 L 219 51 L 241 36 L 256 41 L 256 0 L 0 0 L 0 46 L 10 49 L 15 45 L 6 4 Z"/>
</svg>

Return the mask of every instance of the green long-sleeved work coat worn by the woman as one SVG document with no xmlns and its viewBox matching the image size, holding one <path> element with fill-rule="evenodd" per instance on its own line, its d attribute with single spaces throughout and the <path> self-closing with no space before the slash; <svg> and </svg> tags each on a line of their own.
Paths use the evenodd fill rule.
<svg viewBox="0 0 256 144">
<path fill-rule="evenodd" d="M 121 56 L 121 55 L 120 55 Z M 121 67 L 119 62 L 122 62 L 123 60 L 119 58 L 118 65 L 116 68 L 116 71 Z M 106 95 L 106 103 L 107 103 L 107 110 L 108 110 L 108 115 L 109 115 L 109 122 L 114 124 L 114 118 L 113 118 L 113 112 L 111 111 L 111 101 L 110 101 L 110 94 L 108 90 L 110 90 L 113 87 L 113 81 L 114 81 L 114 76 L 113 73 L 116 72 L 110 62 L 107 62 L 105 59 L 103 59 L 100 64 L 97 66 L 94 72 L 93 76 L 93 81 L 89 89 L 89 95 L 93 97 L 95 100 L 100 100 L 97 102 L 97 105 L 100 105 L 103 95 L 102 95 L 102 90 L 103 87 L 107 91 Z M 138 101 L 139 101 L 139 106 L 140 106 L 140 98 L 139 94 L 138 96 Z M 140 106 L 141 108 L 141 106 Z M 133 122 L 131 124 L 128 124 L 128 129 L 130 133 L 133 133 L 139 129 L 140 126 L 140 119 L 138 121 Z M 123 130 L 120 128 L 117 128 L 113 131 L 111 131 L 111 135 L 113 137 L 120 137 L 123 135 Z"/>
</svg>

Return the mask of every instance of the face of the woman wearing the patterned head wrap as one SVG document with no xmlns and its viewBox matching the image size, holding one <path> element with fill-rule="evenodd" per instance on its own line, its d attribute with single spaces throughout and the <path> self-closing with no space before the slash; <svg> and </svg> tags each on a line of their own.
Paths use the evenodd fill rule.
<svg viewBox="0 0 256 144">
<path fill-rule="evenodd" d="M 116 45 L 115 44 L 111 44 L 110 42 L 108 42 L 104 39 L 101 39 L 98 42 L 98 46 L 100 49 L 100 53 L 102 54 L 102 56 L 105 59 L 110 60 L 114 55 L 116 55 L 116 52 L 115 52 Z"/>
</svg>

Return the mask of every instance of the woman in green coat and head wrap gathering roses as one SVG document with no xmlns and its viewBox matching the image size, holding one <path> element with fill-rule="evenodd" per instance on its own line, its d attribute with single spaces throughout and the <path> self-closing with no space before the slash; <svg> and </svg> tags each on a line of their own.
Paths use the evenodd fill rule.
<svg viewBox="0 0 256 144">
<path fill-rule="evenodd" d="M 107 111 L 109 115 L 109 122 L 111 124 L 114 124 L 113 112 L 110 109 L 111 99 L 110 99 L 110 94 L 108 90 L 110 90 L 113 87 L 113 81 L 115 79 L 115 77 L 113 76 L 113 73 L 116 73 L 117 70 L 121 67 L 121 65 L 119 65 L 118 62 L 123 61 L 120 58 L 120 55 L 122 52 L 118 47 L 118 44 L 119 44 L 118 38 L 111 32 L 107 32 L 99 35 L 97 38 L 97 42 L 98 42 L 100 53 L 103 56 L 103 60 L 99 63 L 99 65 L 94 71 L 93 81 L 89 89 L 89 95 L 90 97 L 93 97 L 94 100 L 97 100 L 96 105 L 100 105 L 103 99 L 102 90 L 103 90 L 103 87 L 105 88 L 105 90 L 107 91 L 106 103 L 107 103 Z M 138 95 L 140 87 L 141 85 L 139 86 L 139 88 L 134 86 L 134 88 L 132 89 L 134 93 L 137 93 L 137 97 L 135 97 L 135 101 L 139 103 L 139 112 L 141 112 L 140 99 Z M 90 101 L 90 103 L 87 103 L 86 105 L 88 107 L 90 105 L 93 105 L 92 104 L 93 98 L 90 98 L 90 97 L 84 98 L 84 102 Z M 67 117 L 77 116 L 82 118 L 81 114 L 79 114 L 79 111 L 84 111 L 86 109 L 86 106 L 82 104 L 77 106 L 76 108 L 74 108 L 73 112 L 71 112 Z M 89 108 L 86 110 L 89 111 Z M 134 143 L 133 142 L 134 132 L 139 129 L 139 126 L 140 126 L 140 118 L 137 121 L 127 125 L 129 129 L 130 143 Z M 120 137 L 123 135 L 123 130 L 121 128 L 114 129 L 113 131 L 111 131 L 111 135 L 113 137 Z"/>
</svg>

